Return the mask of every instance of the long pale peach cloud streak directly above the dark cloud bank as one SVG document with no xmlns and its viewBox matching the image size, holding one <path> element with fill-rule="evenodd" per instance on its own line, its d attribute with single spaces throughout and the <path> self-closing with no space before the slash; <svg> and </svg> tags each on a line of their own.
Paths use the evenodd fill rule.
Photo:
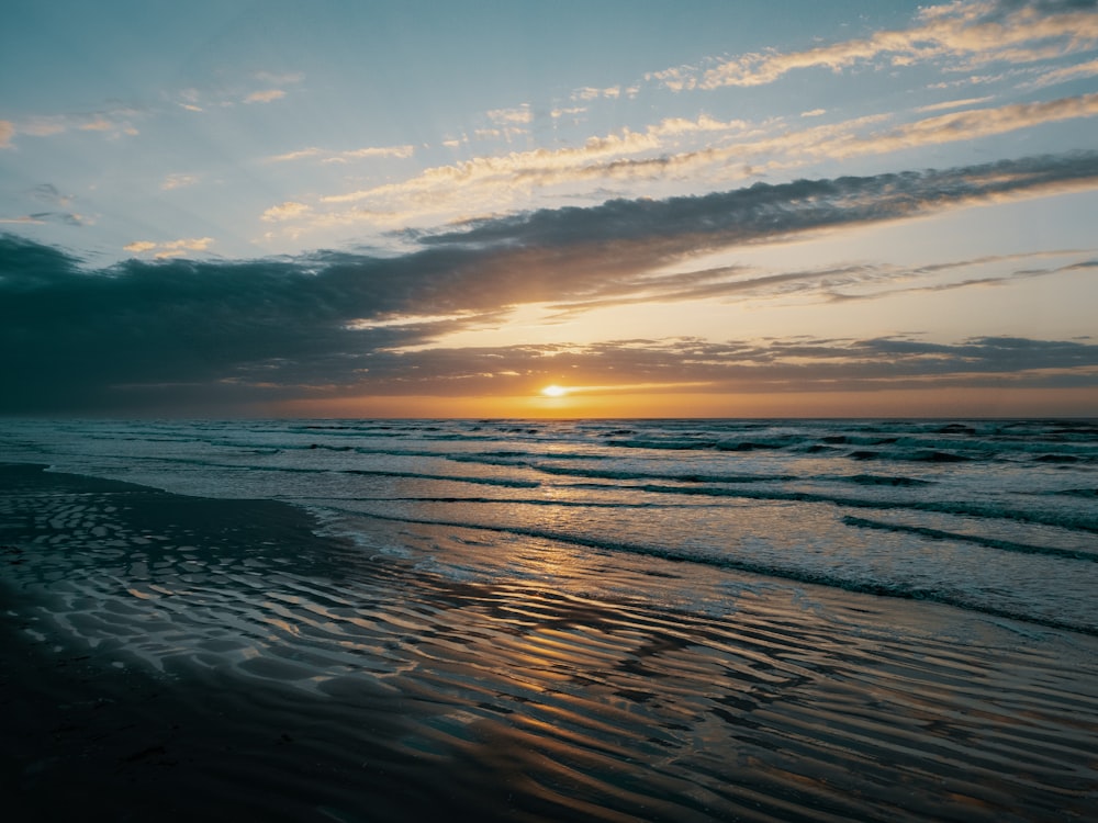
<svg viewBox="0 0 1098 823">
<path fill-rule="evenodd" d="M 535 191 L 552 196 L 581 187 L 623 183 L 690 180 L 716 189 L 759 172 L 977 139 L 1095 114 L 1098 93 L 965 109 L 896 125 L 890 125 L 895 122 L 890 114 L 804 128 L 788 128 L 781 121 L 720 121 L 707 114 L 669 117 L 643 131 L 592 137 L 582 146 L 473 157 L 402 181 L 325 195 L 310 219 L 316 226 L 333 226 L 463 218 L 528 202 Z M 361 207 L 339 207 L 350 203 Z"/>
</svg>

